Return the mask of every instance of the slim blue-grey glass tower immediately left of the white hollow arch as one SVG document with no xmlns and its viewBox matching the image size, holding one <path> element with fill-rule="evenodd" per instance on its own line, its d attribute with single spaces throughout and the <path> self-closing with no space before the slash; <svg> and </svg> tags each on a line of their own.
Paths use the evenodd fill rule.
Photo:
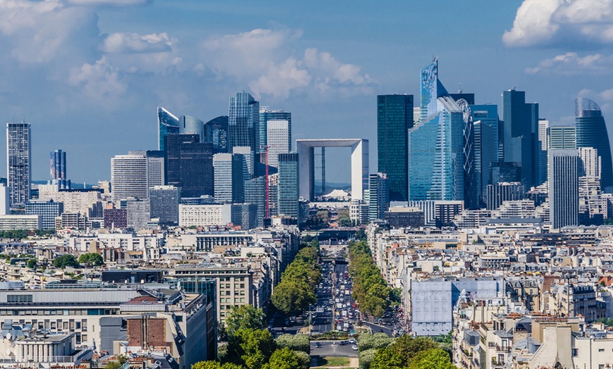
<svg viewBox="0 0 613 369">
<path fill-rule="evenodd" d="M 279 154 L 278 214 L 298 218 L 298 154 Z"/>
</svg>

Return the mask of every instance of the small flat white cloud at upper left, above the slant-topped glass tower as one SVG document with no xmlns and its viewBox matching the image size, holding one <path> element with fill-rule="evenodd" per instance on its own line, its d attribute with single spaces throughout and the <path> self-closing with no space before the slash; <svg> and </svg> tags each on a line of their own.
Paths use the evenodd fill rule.
<svg viewBox="0 0 613 369">
<path fill-rule="evenodd" d="M 112 33 L 104 39 L 102 51 L 107 53 L 159 53 L 171 51 L 177 39 L 171 39 L 166 32 L 138 35 L 137 33 Z"/>
</svg>

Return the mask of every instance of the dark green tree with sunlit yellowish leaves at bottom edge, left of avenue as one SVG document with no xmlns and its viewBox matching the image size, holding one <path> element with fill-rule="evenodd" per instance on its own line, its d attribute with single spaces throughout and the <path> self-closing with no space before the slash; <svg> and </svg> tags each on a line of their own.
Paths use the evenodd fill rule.
<svg viewBox="0 0 613 369">
<path fill-rule="evenodd" d="M 276 349 L 275 340 L 267 330 L 240 329 L 231 334 L 226 359 L 248 369 L 260 369 Z"/>
</svg>

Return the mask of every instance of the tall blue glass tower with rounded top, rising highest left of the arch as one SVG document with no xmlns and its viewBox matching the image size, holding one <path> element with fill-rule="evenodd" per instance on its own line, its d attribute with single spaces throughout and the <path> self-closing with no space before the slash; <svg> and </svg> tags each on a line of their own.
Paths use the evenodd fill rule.
<svg viewBox="0 0 613 369">
<path fill-rule="evenodd" d="M 249 146 L 259 152 L 259 102 L 247 92 L 230 97 L 228 111 L 228 152 L 235 146 Z M 253 163 L 255 165 L 255 163 Z M 253 170 L 250 170 L 253 173 Z"/>
</svg>

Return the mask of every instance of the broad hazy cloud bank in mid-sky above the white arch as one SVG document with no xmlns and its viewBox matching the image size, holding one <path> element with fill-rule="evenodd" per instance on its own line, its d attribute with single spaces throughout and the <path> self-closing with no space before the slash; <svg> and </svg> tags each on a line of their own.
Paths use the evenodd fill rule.
<svg viewBox="0 0 613 369">
<path fill-rule="evenodd" d="M 358 65 L 315 48 L 297 52 L 292 41 L 301 36 L 296 30 L 256 29 L 212 37 L 203 43 L 202 58 L 219 75 L 247 81 L 257 97 L 287 99 L 292 91 L 349 96 L 372 92 L 373 80 Z"/>
</svg>

